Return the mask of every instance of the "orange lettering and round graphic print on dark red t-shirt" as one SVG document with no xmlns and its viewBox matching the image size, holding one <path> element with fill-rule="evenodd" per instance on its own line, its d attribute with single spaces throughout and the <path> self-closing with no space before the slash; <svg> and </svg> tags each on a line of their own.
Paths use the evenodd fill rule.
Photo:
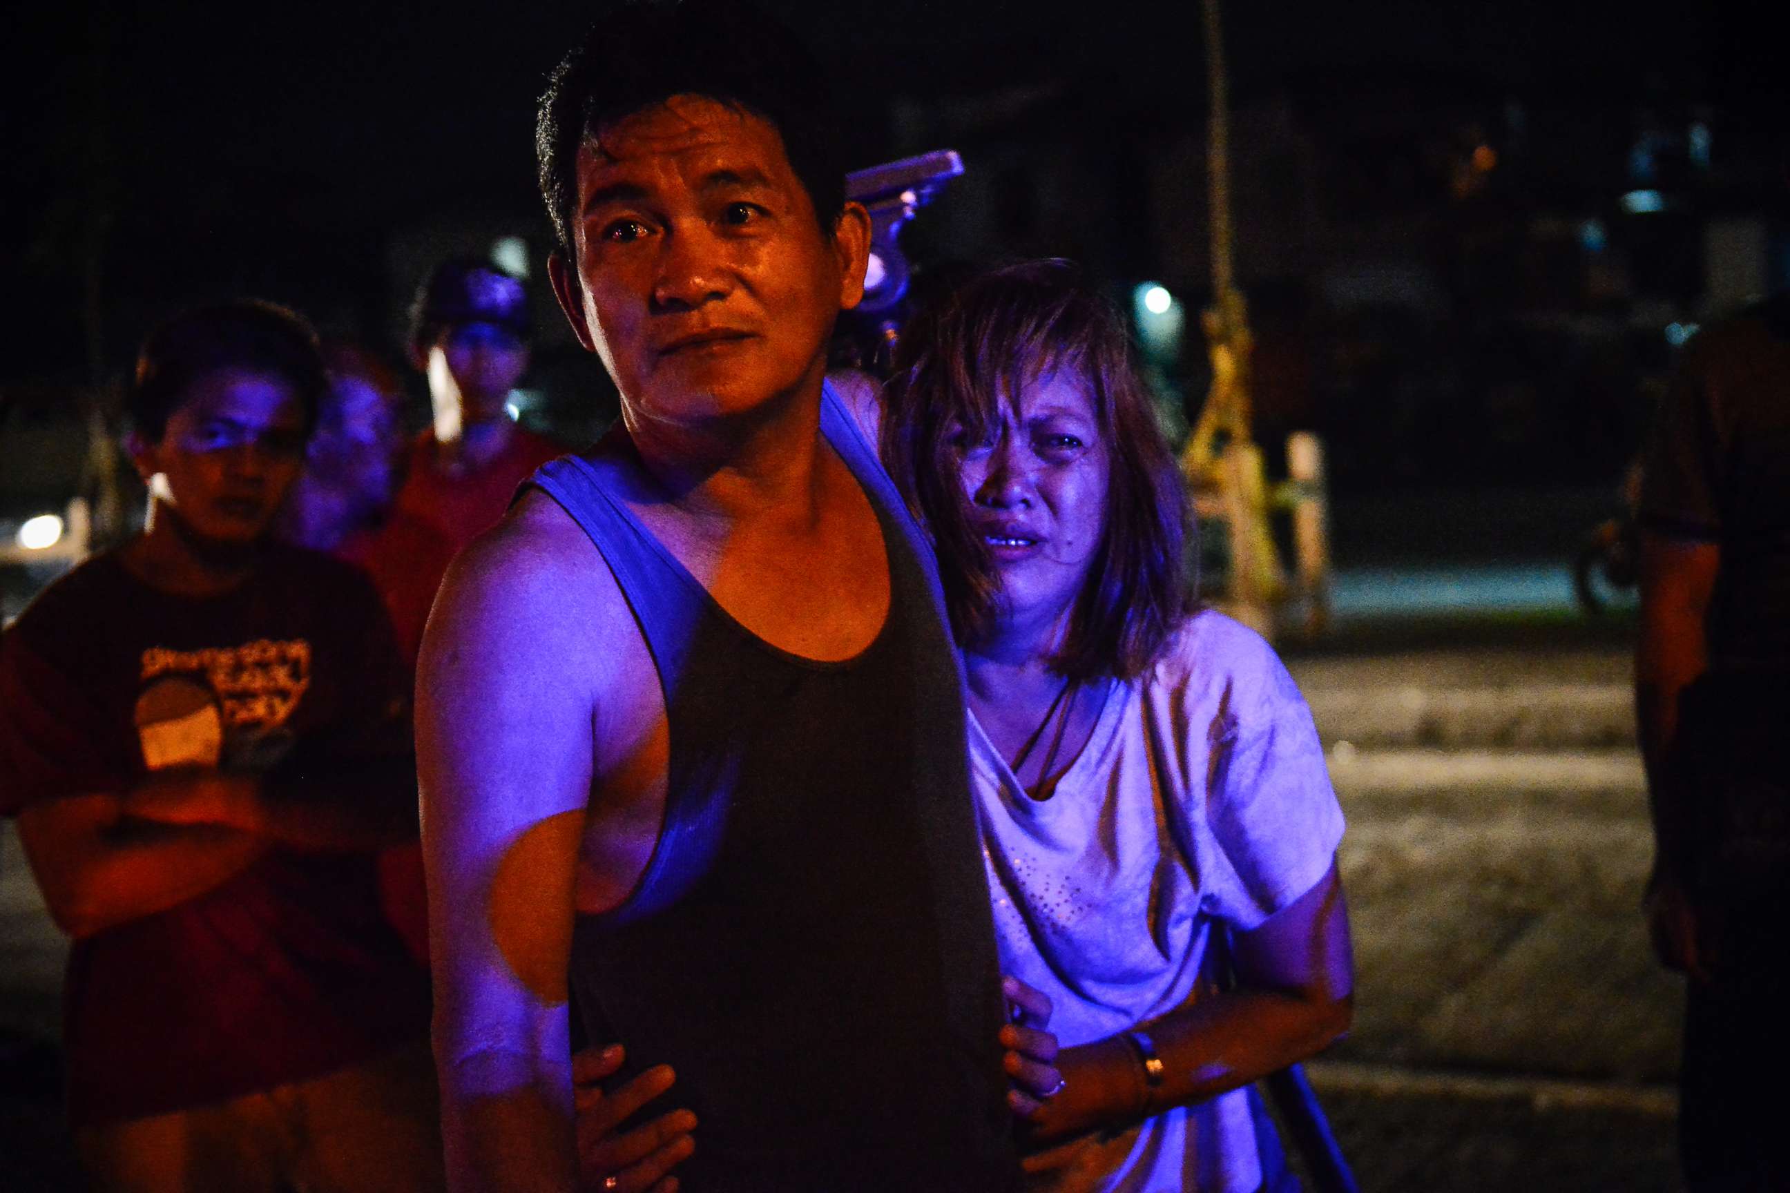
<svg viewBox="0 0 1790 1193">
<path fill-rule="evenodd" d="M 136 735 L 143 766 L 260 771 L 292 748 L 286 721 L 311 683 L 311 644 L 143 651 Z"/>
</svg>

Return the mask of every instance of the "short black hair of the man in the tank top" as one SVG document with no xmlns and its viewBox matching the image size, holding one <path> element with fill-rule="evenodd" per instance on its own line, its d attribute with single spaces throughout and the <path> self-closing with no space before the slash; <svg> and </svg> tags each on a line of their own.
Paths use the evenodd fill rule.
<svg viewBox="0 0 1790 1193">
<path fill-rule="evenodd" d="M 770 122 L 823 231 L 845 209 L 845 150 L 820 63 L 743 0 L 610 0 L 548 79 L 535 120 L 541 197 L 571 252 L 578 147 L 673 95 L 702 95 Z"/>
</svg>

